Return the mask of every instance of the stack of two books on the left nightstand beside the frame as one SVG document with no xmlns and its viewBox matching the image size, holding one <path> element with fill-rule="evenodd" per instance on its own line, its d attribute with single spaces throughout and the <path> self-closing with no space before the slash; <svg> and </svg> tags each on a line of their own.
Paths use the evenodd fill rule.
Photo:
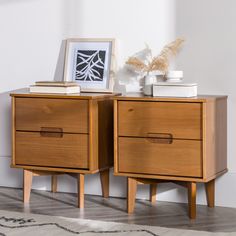
<svg viewBox="0 0 236 236">
<path fill-rule="evenodd" d="M 75 82 L 37 81 L 30 86 L 31 93 L 80 93 L 80 86 Z"/>
</svg>

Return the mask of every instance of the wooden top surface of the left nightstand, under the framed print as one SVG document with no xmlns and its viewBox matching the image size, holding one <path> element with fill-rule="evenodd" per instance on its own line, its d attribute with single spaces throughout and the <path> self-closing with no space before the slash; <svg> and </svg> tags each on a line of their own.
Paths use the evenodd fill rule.
<svg viewBox="0 0 236 236">
<path fill-rule="evenodd" d="M 30 93 L 29 88 L 17 89 L 10 93 L 12 97 L 39 97 L 39 98 L 67 98 L 67 99 L 107 99 L 120 95 L 120 93 L 78 93 L 78 94 L 52 94 Z"/>
</svg>

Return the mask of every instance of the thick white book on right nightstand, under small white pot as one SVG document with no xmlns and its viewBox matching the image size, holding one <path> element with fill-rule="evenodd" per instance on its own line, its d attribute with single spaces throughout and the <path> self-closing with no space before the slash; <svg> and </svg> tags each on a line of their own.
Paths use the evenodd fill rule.
<svg viewBox="0 0 236 236">
<path fill-rule="evenodd" d="M 197 84 L 160 82 L 153 84 L 154 97 L 195 97 Z"/>
</svg>

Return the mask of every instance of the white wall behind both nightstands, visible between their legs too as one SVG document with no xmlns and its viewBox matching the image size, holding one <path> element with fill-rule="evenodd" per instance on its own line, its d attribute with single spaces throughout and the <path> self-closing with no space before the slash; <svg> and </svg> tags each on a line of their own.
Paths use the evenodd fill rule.
<svg viewBox="0 0 236 236">
<path fill-rule="evenodd" d="M 127 57 L 145 42 L 156 53 L 176 36 L 184 36 L 187 42 L 177 67 L 184 70 L 185 80 L 198 82 L 201 93 L 229 95 L 229 173 L 217 180 L 216 204 L 236 207 L 236 187 L 232 187 L 236 181 L 235 7 L 234 0 L 0 0 L 4 32 L 0 38 L 0 91 L 53 78 L 63 37 L 118 39 L 117 63 L 122 69 Z M 9 169 L 10 104 L 6 93 L 0 95 L 0 130 L 0 185 L 21 186 L 22 171 Z M 110 194 L 125 196 L 125 178 L 112 174 L 111 178 Z M 33 185 L 48 189 L 50 181 L 37 178 Z M 203 186 L 198 187 L 197 202 L 205 204 Z M 60 177 L 59 190 L 75 192 L 74 180 Z M 97 175 L 86 176 L 85 192 L 101 193 Z M 147 195 L 147 186 L 139 187 L 138 197 Z M 160 185 L 158 199 L 187 200 L 185 191 L 174 185 Z"/>
</svg>

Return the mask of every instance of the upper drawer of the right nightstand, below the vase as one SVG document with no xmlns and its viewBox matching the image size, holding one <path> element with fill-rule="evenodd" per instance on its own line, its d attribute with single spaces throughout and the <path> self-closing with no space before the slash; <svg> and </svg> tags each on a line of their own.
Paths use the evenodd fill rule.
<svg viewBox="0 0 236 236">
<path fill-rule="evenodd" d="M 201 139 L 201 103 L 118 102 L 118 135 Z"/>
</svg>

